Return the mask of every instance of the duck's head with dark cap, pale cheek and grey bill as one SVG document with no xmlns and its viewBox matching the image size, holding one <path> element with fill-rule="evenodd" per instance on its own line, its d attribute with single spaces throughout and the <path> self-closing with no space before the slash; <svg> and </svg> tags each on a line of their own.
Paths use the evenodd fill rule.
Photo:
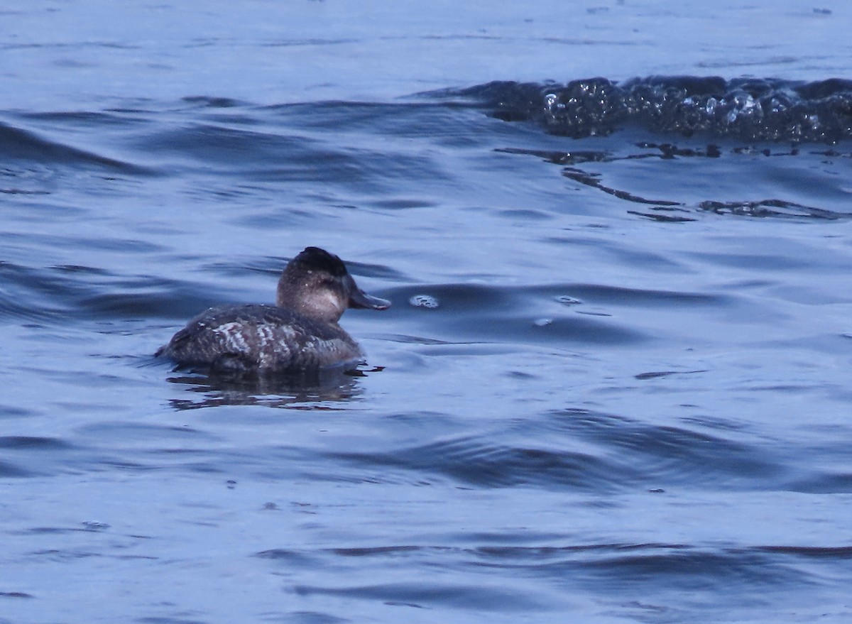
<svg viewBox="0 0 852 624">
<path fill-rule="evenodd" d="M 315 321 L 334 323 L 347 308 L 390 307 L 389 301 L 362 291 L 343 260 L 319 247 L 306 247 L 287 263 L 275 303 Z"/>
</svg>

